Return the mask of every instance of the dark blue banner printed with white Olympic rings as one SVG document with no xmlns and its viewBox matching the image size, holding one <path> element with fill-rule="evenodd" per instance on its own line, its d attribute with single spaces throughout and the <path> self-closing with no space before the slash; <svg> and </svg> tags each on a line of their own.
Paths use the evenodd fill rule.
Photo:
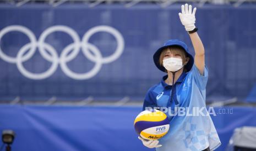
<svg viewBox="0 0 256 151">
<path fill-rule="evenodd" d="M 2 4 L 0 100 L 143 100 L 164 75 L 152 61 L 157 48 L 181 39 L 194 51 L 179 11 L 180 5 Z M 256 100 L 255 13 L 255 5 L 198 7 L 208 101 Z"/>
</svg>

